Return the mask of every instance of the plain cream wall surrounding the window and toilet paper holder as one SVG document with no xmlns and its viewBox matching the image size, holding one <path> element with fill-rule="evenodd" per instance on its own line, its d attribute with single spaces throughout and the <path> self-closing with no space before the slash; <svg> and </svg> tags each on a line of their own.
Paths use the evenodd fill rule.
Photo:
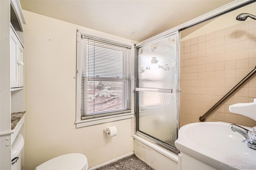
<svg viewBox="0 0 256 170">
<path fill-rule="evenodd" d="M 89 167 L 133 152 L 134 119 L 76 128 L 76 29 L 88 34 L 130 40 L 24 11 L 25 31 L 25 169 L 78 152 Z M 116 126 L 107 138 L 104 128 Z M 132 130 L 131 130 L 132 129 Z"/>
</svg>

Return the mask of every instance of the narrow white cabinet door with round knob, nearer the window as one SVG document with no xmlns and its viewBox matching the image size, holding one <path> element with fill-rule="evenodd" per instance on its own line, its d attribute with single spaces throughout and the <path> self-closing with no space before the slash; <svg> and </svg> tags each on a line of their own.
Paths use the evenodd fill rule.
<svg viewBox="0 0 256 170">
<path fill-rule="evenodd" d="M 24 48 L 19 41 L 18 51 L 18 87 L 24 87 Z"/>
</svg>

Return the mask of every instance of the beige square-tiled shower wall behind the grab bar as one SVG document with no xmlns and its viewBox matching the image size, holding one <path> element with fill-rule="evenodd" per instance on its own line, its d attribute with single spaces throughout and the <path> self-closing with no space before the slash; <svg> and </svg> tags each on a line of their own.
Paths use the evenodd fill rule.
<svg viewBox="0 0 256 170">
<path fill-rule="evenodd" d="M 256 21 L 217 30 L 180 44 L 180 126 L 199 122 L 218 100 L 256 66 Z M 253 102 L 256 75 L 251 77 L 206 121 L 256 126 L 256 121 L 229 112 L 235 103 Z"/>
</svg>

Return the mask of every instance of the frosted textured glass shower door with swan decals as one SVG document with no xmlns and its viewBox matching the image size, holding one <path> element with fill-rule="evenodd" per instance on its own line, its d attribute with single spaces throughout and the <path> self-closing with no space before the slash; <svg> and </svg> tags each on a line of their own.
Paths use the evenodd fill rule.
<svg viewBox="0 0 256 170">
<path fill-rule="evenodd" d="M 137 132 L 172 148 L 178 134 L 177 36 L 137 47 Z"/>
</svg>

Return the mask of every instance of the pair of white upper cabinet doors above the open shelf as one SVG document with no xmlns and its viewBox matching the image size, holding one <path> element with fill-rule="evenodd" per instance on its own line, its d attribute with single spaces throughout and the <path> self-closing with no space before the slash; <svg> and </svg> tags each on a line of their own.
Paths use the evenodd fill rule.
<svg viewBox="0 0 256 170">
<path fill-rule="evenodd" d="M 24 48 L 10 28 L 10 87 L 24 87 Z"/>
</svg>

